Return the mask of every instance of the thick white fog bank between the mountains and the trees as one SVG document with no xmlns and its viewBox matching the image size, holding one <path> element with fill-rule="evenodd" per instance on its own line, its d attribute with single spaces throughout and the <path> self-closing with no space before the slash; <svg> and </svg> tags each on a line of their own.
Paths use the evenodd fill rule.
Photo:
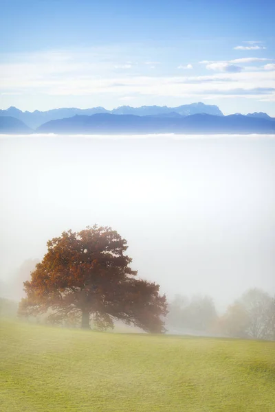
<svg viewBox="0 0 275 412">
<path fill-rule="evenodd" d="M 0 281 L 63 230 L 111 226 L 168 297 L 275 293 L 275 137 L 1 136 Z"/>
</svg>

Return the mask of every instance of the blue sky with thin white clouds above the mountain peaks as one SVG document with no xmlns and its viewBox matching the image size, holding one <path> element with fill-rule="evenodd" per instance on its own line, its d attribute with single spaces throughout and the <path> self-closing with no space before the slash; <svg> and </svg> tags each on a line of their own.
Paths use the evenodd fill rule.
<svg viewBox="0 0 275 412">
<path fill-rule="evenodd" d="M 204 102 L 275 117 L 274 1 L 0 5 L 0 108 Z"/>
</svg>

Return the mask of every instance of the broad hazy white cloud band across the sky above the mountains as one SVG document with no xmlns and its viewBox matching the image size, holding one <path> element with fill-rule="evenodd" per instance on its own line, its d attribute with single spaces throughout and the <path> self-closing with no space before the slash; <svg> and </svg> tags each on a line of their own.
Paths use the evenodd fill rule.
<svg viewBox="0 0 275 412">
<path fill-rule="evenodd" d="M 105 52 L 104 52 L 105 53 Z M 43 96 L 93 96 L 96 100 L 130 100 L 131 96 L 158 98 L 233 98 L 274 99 L 275 68 L 243 71 L 231 62 L 203 61 L 207 76 L 142 76 L 133 70 L 114 70 L 115 62 L 129 61 L 116 50 L 104 54 L 101 50 L 8 56 L 0 63 L 0 93 L 22 93 L 43 99 Z M 250 58 L 251 59 L 251 58 Z M 140 61 L 144 61 L 139 57 Z M 253 60 L 255 61 L 255 60 Z M 258 60 L 256 60 L 258 61 Z M 236 62 L 236 61 L 234 61 Z M 244 62 L 243 60 L 241 62 Z M 245 61 L 247 62 L 247 61 Z M 250 61 L 249 61 L 250 62 Z M 237 63 L 237 62 L 236 62 Z M 192 73 L 192 71 L 191 71 Z M 128 99 L 129 98 L 129 99 Z M 4 100 L 4 95 L 2 97 Z M 102 101 L 101 100 L 101 101 Z"/>
</svg>

